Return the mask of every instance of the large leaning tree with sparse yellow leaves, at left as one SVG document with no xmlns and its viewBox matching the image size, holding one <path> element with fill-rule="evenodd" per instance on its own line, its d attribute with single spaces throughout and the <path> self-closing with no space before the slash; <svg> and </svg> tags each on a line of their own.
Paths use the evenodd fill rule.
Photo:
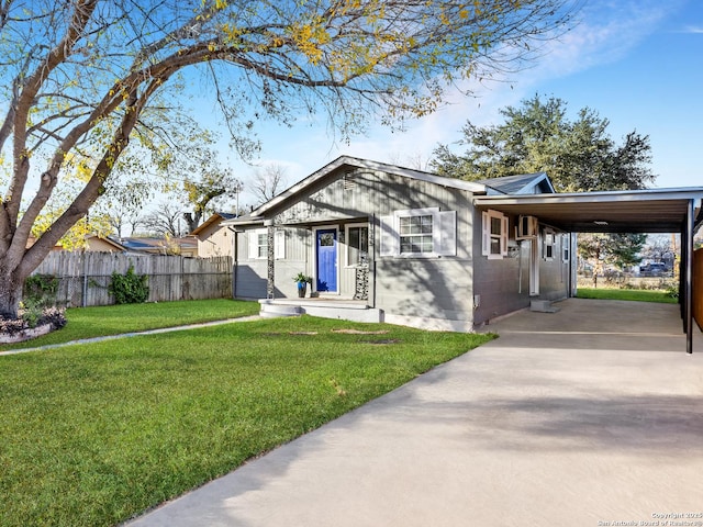
<svg viewBox="0 0 703 527">
<path fill-rule="evenodd" d="M 434 111 L 569 23 L 570 0 L 5 0 L 0 4 L 0 313 L 105 192 L 123 154 L 168 144 L 174 99 L 208 76 L 239 152 L 265 117 L 322 112 L 343 135 Z M 204 81 L 203 81 L 204 82 Z M 68 175 L 83 184 L 26 249 Z"/>
</svg>

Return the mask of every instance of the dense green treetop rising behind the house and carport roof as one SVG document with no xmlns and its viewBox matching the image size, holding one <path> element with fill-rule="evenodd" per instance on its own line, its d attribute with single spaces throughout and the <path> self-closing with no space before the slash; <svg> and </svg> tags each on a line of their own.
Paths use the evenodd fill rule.
<svg viewBox="0 0 703 527">
<path fill-rule="evenodd" d="M 649 137 L 633 131 L 618 145 L 607 133 L 607 119 L 594 110 L 581 109 L 571 121 L 565 101 L 536 94 L 500 113 L 502 124 L 468 122 L 460 142 L 467 150 L 439 146 L 433 168 L 468 180 L 544 171 L 560 192 L 643 189 L 655 178 Z"/>
</svg>

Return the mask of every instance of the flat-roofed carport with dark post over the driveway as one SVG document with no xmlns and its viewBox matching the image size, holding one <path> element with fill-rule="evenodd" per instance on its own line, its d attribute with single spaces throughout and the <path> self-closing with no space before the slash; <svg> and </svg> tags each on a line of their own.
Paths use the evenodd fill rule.
<svg viewBox="0 0 703 527">
<path fill-rule="evenodd" d="M 680 295 L 687 352 L 693 352 L 693 236 L 703 223 L 703 188 L 477 197 L 479 209 L 537 216 L 568 233 L 681 235 Z"/>
</svg>

